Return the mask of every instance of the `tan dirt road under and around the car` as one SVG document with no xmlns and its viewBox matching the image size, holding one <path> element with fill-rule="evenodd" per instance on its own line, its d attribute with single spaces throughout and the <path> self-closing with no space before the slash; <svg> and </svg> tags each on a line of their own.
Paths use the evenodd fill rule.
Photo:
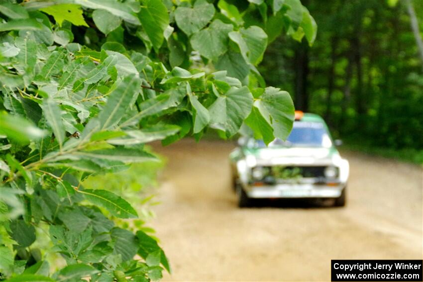
<svg viewBox="0 0 423 282">
<path fill-rule="evenodd" d="M 229 180 L 233 144 L 154 147 L 169 160 L 151 221 L 173 268 L 164 281 L 330 281 L 331 259 L 422 259 L 421 167 L 343 152 L 346 207 L 239 209 Z"/>
</svg>

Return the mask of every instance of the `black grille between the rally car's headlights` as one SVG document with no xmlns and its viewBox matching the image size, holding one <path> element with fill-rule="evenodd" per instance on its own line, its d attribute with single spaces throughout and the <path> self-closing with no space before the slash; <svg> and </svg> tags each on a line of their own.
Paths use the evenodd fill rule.
<svg viewBox="0 0 423 282">
<path fill-rule="evenodd" d="M 324 166 L 273 166 L 269 174 L 275 179 L 318 178 L 324 177 Z"/>
</svg>

